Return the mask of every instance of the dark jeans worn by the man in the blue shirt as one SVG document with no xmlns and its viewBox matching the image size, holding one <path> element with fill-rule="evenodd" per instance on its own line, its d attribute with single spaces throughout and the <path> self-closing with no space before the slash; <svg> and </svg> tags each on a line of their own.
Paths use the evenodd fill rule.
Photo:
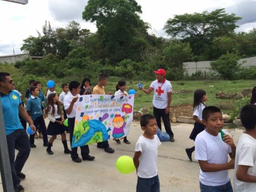
<svg viewBox="0 0 256 192">
<path fill-rule="evenodd" d="M 17 173 L 21 172 L 26 163 L 26 159 L 30 155 L 30 141 L 23 128 L 7 135 L 6 140 L 10 158 L 12 182 L 13 185 L 16 186 L 20 184 L 20 179 L 18 178 Z M 18 150 L 16 159 L 15 149 Z"/>
</svg>

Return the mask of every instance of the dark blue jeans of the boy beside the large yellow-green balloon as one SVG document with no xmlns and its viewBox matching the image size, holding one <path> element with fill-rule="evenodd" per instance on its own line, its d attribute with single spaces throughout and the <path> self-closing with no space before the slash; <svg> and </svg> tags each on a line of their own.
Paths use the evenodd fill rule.
<svg viewBox="0 0 256 192">
<path fill-rule="evenodd" d="M 136 192 L 160 192 L 159 177 L 140 178 L 138 176 Z"/>
</svg>

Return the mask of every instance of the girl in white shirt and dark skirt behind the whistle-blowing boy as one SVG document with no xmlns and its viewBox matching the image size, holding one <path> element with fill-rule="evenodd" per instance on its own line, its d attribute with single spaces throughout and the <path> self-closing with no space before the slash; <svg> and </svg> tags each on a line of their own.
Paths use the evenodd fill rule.
<svg viewBox="0 0 256 192">
<path fill-rule="evenodd" d="M 194 103 L 193 103 L 193 108 L 194 108 L 193 120 L 195 120 L 195 125 L 189 137 L 194 141 L 197 134 L 199 134 L 201 131 L 205 129 L 205 124 L 202 121 L 202 112 L 206 107 L 206 105 L 204 104 L 205 101 L 207 101 L 206 92 L 204 90 L 196 90 L 194 92 Z M 186 153 L 190 161 L 192 161 L 191 155 L 193 151 L 195 151 L 195 146 L 189 149 L 188 148 L 186 149 Z"/>
</svg>

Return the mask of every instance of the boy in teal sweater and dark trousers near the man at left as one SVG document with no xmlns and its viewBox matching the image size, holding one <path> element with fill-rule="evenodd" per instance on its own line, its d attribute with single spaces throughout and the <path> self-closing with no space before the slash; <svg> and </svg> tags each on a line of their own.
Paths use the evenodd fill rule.
<svg viewBox="0 0 256 192">
<path fill-rule="evenodd" d="M 37 96 L 39 95 L 39 90 L 37 87 L 33 86 L 30 88 L 31 97 L 27 100 L 26 110 L 27 113 L 31 116 L 32 120 L 34 121 L 35 127 L 40 127 L 42 131 L 42 139 L 44 141 L 44 146 L 48 146 L 48 138 L 46 134 L 46 125 L 44 120 L 45 115 L 45 107 L 42 105 L 41 99 Z M 30 135 L 30 147 L 34 148 L 36 145 L 35 142 L 35 134 Z"/>
</svg>

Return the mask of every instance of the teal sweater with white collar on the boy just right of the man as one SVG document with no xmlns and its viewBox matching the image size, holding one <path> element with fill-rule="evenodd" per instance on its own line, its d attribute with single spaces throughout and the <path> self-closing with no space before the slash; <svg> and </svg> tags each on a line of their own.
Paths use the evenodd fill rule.
<svg viewBox="0 0 256 192">
<path fill-rule="evenodd" d="M 26 110 L 30 111 L 31 118 L 34 121 L 38 116 L 43 114 L 42 109 L 44 109 L 41 99 L 34 97 L 33 95 L 26 101 Z"/>
</svg>

